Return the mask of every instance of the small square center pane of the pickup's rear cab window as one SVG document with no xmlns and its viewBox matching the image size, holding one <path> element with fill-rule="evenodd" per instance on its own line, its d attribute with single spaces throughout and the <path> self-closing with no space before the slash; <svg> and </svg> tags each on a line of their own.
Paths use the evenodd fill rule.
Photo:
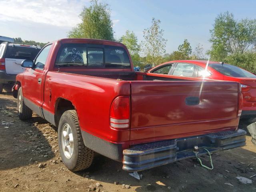
<svg viewBox="0 0 256 192">
<path fill-rule="evenodd" d="M 88 66 L 103 67 L 103 48 L 88 47 Z"/>
</svg>

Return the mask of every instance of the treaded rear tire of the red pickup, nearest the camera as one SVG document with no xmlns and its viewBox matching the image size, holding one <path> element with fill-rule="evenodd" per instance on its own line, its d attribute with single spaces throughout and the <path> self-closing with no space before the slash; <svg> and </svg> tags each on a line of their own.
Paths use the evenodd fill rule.
<svg viewBox="0 0 256 192">
<path fill-rule="evenodd" d="M 72 144 L 69 143 L 69 136 L 68 138 L 66 138 L 66 140 L 68 141 L 62 141 L 65 140 L 63 131 L 65 130 L 65 127 L 67 125 L 70 127 L 72 131 Z M 67 152 L 69 150 L 65 150 L 64 152 L 63 149 L 67 148 L 67 146 L 65 146 L 65 143 L 67 142 L 67 145 L 73 146 L 72 154 L 69 156 L 69 158 L 67 157 Z M 64 143 L 64 145 L 62 145 L 62 143 Z M 80 171 L 91 166 L 92 161 L 94 159 L 94 151 L 84 146 L 84 141 L 82 138 L 76 110 L 68 110 L 62 114 L 58 126 L 58 145 L 62 162 L 70 171 Z"/>
</svg>

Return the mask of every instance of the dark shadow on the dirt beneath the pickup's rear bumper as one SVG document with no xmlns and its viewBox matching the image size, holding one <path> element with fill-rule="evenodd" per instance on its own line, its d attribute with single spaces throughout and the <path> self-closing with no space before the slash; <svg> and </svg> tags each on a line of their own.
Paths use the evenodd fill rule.
<svg viewBox="0 0 256 192">
<path fill-rule="evenodd" d="M 250 138 L 248 138 L 250 139 Z M 248 141 L 248 145 L 249 145 Z M 96 182 L 114 184 L 119 182 L 119 189 L 122 184 L 136 186 L 136 192 L 155 191 L 177 191 L 177 192 L 212 192 L 212 191 L 254 191 L 256 188 L 256 148 L 235 148 L 227 151 L 212 154 L 214 169 L 203 168 L 196 158 L 181 160 L 168 165 L 152 168 L 139 172 L 142 180 L 137 180 L 122 170 L 122 163 L 115 162 L 98 155 L 94 164 L 87 170 L 76 174 L 88 174 L 89 179 Z M 207 155 L 200 157 L 203 164 L 210 166 Z M 247 165 L 249 166 L 245 168 Z M 236 176 L 243 176 L 254 181 L 252 184 L 242 184 Z M 230 183 L 228 186 L 224 183 Z M 104 186 L 104 184 L 103 184 Z M 169 188 L 170 189 L 169 189 Z M 112 188 L 111 188 L 112 189 Z M 114 190 L 114 188 L 113 188 Z M 110 190 L 111 191 L 111 190 Z"/>
</svg>

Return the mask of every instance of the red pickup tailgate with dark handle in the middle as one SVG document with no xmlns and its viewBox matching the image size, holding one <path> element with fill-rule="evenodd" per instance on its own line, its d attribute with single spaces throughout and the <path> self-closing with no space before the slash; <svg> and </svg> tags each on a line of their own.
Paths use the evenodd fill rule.
<svg viewBox="0 0 256 192">
<path fill-rule="evenodd" d="M 132 81 L 130 144 L 238 126 L 238 83 Z"/>
</svg>

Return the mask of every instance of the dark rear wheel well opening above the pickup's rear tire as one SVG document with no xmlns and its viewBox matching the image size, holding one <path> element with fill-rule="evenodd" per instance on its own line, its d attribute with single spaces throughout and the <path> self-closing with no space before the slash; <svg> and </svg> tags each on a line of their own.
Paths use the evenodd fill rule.
<svg viewBox="0 0 256 192">
<path fill-rule="evenodd" d="M 55 105 L 55 116 L 54 116 L 56 127 L 58 127 L 58 124 L 60 122 L 60 117 L 62 116 L 62 114 L 67 110 L 74 110 L 74 109 L 75 107 L 71 101 L 66 100 L 64 98 L 58 98 Z"/>
</svg>

